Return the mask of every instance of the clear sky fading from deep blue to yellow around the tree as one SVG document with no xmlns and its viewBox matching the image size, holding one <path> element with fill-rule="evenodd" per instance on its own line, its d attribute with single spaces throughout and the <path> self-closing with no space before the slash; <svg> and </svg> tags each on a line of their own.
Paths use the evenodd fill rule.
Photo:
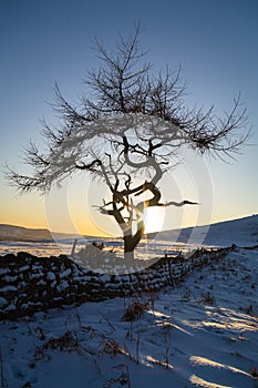
<svg viewBox="0 0 258 388">
<path fill-rule="evenodd" d="M 22 146 L 30 139 L 41 142 L 39 119 L 44 116 L 49 123 L 56 120 L 47 103 L 52 101 L 55 81 L 64 96 L 76 102 L 86 70 L 99 63 L 92 50 L 93 38 L 112 48 L 117 32 L 130 34 L 137 20 L 142 21 L 142 44 L 149 49 L 147 59 L 154 70 L 182 65 L 190 106 L 214 104 L 217 112 L 223 112 L 241 91 L 252 126 L 251 145 L 242 149 L 236 162 L 205 159 L 199 165 L 190 155 L 188 164 L 171 174 L 164 183 L 167 200 L 196 197 L 199 192 L 203 196 L 211 194 L 203 203 L 202 215 L 189 208 L 177 214 L 174 208 L 168 215 L 174 221 L 167 225 L 178 227 L 182 223 L 202 224 L 258 213 L 257 0 L 10 0 L 0 6 L 0 223 L 63 232 L 74 231 L 75 225 L 87 234 L 100 233 L 97 227 L 105 221 L 99 216 L 95 219 L 86 203 L 92 198 L 101 202 L 101 194 L 97 185 L 89 188 L 89 177 L 70 183 L 51 198 L 38 194 L 20 197 L 7 186 L 3 167 L 8 162 L 22 171 Z M 68 214 L 62 211 L 62 202 Z"/>
</svg>

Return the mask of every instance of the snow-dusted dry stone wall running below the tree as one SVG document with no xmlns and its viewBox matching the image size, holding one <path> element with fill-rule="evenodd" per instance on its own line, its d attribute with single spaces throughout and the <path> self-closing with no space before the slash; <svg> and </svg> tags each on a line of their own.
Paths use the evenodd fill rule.
<svg viewBox="0 0 258 388">
<path fill-rule="evenodd" d="M 188 259 L 161 258 L 148 268 L 124 275 L 89 272 L 63 255 L 37 257 L 21 252 L 0 256 L 0 319 L 173 287 L 190 272 L 224 258 L 228 251 L 200 249 Z"/>
</svg>

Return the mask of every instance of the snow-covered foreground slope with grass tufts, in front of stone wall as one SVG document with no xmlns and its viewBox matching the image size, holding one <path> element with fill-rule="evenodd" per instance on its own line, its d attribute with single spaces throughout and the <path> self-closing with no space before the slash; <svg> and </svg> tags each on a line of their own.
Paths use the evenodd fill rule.
<svg viewBox="0 0 258 388">
<path fill-rule="evenodd" d="M 2 387 L 258 387 L 258 251 L 230 252 L 163 293 L 38 313 L 0 331 Z"/>
</svg>

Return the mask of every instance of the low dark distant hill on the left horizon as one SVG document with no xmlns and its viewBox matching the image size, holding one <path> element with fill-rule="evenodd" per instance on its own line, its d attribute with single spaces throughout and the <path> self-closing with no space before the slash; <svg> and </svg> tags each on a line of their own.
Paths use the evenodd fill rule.
<svg viewBox="0 0 258 388">
<path fill-rule="evenodd" d="M 73 238 L 74 234 L 51 233 L 49 229 L 28 228 L 16 225 L 0 224 L 0 241 L 40 241 L 54 238 Z"/>
</svg>

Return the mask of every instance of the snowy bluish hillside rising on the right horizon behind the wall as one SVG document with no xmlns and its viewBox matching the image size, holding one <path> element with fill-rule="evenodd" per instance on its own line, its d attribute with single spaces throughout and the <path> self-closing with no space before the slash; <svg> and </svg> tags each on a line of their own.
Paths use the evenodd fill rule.
<svg viewBox="0 0 258 388">
<path fill-rule="evenodd" d="M 152 237 L 152 235 L 148 235 Z M 196 244 L 228 246 L 258 244 L 258 215 L 219 222 L 211 225 L 159 232 L 162 241 L 193 242 Z"/>
</svg>

